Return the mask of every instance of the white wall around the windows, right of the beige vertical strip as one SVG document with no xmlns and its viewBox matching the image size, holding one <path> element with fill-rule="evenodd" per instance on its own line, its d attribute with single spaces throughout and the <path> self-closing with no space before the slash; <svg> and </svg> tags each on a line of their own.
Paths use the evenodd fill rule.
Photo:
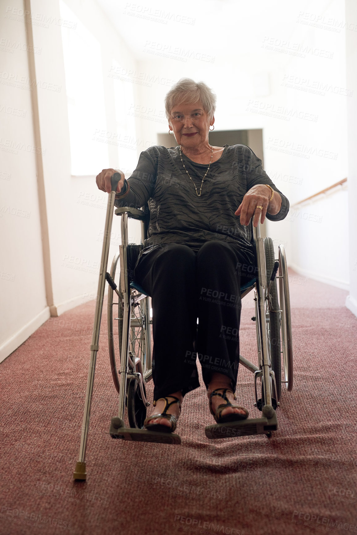
<svg viewBox="0 0 357 535">
<path fill-rule="evenodd" d="M 83 4 L 69 0 L 66 4 L 100 42 L 102 72 L 93 75 L 103 77 L 107 115 L 105 133 L 109 132 L 113 137 L 117 127 L 113 79 L 109 77 L 110 67 L 115 58 L 124 62 L 128 68 L 134 68 L 134 58 L 95 2 Z M 44 0 L 34 0 L 33 9 L 37 12 L 48 11 L 48 3 Z M 57 1 L 51 3 L 51 14 L 60 18 Z M 37 76 L 47 77 L 63 88 L 60 93 L 45 92 L 40 100 L 40 128 L 48 148 L 44 157 L 44 180 L 49 214 L 54 306 L 57 313 L 60 313 L 71 308 L 74 303 L 82 302 L 88 291 L 96 292 L 102 248 L 100 231 L 104 230 L 108 196 L 97 189 L 95 175 L 106 163 L 94 171 L 93 175 L 71 176 L 61 28 L 55 25 L 49 32 L 47 29 L 35 27 L 34 35 L 36 44 L 44 50 L 41 56 L 36 57 Z M 88 73 L 88 83 L 91 76 L 92 73 Z M 93 102 L 93 108 L 100 104 Z M 92 108 L 88 109 L 88 114 L 90 113 Z M 97 140 L 98 148 L 102 149 L 103 139 L 107 141 L 105 134 L 95 135 L 94 131 L 93 136 Z M 110 143 L 104 144 L 108 149 L 109 166 L 116 169 L 119 163 L 117 147 Z M 134 151 L 136 153 L 136 147 Z"/>
</svg>

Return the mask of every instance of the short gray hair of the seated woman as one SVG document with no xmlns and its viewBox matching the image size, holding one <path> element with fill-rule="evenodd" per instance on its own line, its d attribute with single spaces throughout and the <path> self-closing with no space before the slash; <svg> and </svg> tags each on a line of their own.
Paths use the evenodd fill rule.
<svg viewBox="0 0 357 535">
<path fill-rule="evenodd" d="M 212 119 L 216 110 L 216 100 L 216 95 L 212 93 L 212 90 L 206 83 L 195 82 L 191 78 L 180 78 L 165 96 L 166 117 L 170 120 L 173 106 L 182 102 L 193 104 L 194 102 L 200 101 L 209 119 Z"/>
</svg>

